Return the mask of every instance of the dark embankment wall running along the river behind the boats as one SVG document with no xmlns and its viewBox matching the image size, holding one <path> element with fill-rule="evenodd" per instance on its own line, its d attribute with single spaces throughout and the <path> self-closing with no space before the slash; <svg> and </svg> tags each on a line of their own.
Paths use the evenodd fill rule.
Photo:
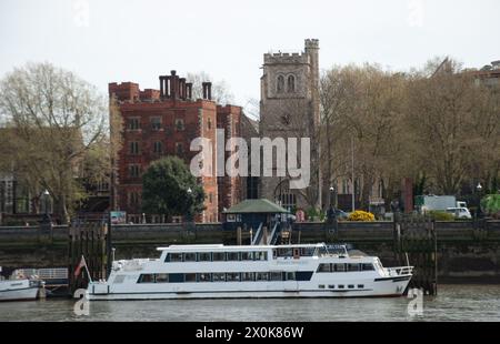
<svg viewBox="0 0 500 344">
<path fill-rule="evenodd" d="M 440 283 L 500 283 L 500 221 L 437 222 L 438 277 Z M 0 227 L 0 266 L 4 274 L 19 267 L 68 266 L 67 226 L 52 233 L 37 226 Z M 242 242 L 250 233 L 242 231 Z M 184 243 L 237 242 L 236 231 L 218 223 L 186 226 L 179 224 L 117 225 L 112 229 L 116 259 L 156 257 L 156 247 Z M 358 250 L 378 255 L 386 265 L 396 264 L 393 223 L 339 223 L 334 232 L 324 223 L 297 223 L 292 241 L 301 243 L 352 243 Z M 410 262 L 411 263 L 411 262 Z"/>
</svg>

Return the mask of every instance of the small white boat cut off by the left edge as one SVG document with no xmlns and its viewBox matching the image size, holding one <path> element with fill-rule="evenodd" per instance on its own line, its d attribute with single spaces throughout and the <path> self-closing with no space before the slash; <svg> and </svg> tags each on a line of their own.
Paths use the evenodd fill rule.
<svg viewBox="0 0 500 344">
<path fill-rule="evenodd" d="M 38 279 L 16 276 L 0 280 L 0 301 L 37 300 L 44 297 L 44 283 Z"/>
</svg>

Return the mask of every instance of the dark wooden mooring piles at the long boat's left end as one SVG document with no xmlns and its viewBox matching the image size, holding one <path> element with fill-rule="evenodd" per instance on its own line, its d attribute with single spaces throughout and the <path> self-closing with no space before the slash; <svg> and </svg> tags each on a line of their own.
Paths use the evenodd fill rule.
<svg viewBox="0 0 500 344">
<path fill-rule="evenodd" d="M 71 295 L 78 289 L 87 287 L 89 276 L 82 267 L 78 276 L 76 269 L 84 257 L 92 281 L 107 277 L 108 260 L 108 222 L 103 219 L 74 219 L 69 227 L 68 240 L 68 273 L 69 292 Z"/>
</svg>

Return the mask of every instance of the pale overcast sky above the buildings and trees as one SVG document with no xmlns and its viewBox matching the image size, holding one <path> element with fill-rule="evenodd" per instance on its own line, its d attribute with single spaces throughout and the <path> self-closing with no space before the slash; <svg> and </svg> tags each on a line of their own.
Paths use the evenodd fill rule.
<svg viewBox="0 0 500 344">
<path fill-rule="evenodd" d="M 246 105 L 260 98 L 262 54 L 320 40 L 320 67 L 392 70 L 451 55 L 500 60 L 498 0 L 1 0 L 0 75 L 28 61 L 108 82 L 159 88 L 158 75 L 206 71 Z"/>
</svg>

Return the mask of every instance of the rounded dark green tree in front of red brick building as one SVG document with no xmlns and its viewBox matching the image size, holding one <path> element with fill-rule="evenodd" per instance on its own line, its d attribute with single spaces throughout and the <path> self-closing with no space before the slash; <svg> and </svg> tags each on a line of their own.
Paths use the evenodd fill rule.
<svg viewBox="0 0 500 344">
<path fill-rule="evenodd" d="M 203 211 L 203 188 L 177 156 L 154 161 L 142 175 L 144 212 L 189 219 Z"/>
</svg>

